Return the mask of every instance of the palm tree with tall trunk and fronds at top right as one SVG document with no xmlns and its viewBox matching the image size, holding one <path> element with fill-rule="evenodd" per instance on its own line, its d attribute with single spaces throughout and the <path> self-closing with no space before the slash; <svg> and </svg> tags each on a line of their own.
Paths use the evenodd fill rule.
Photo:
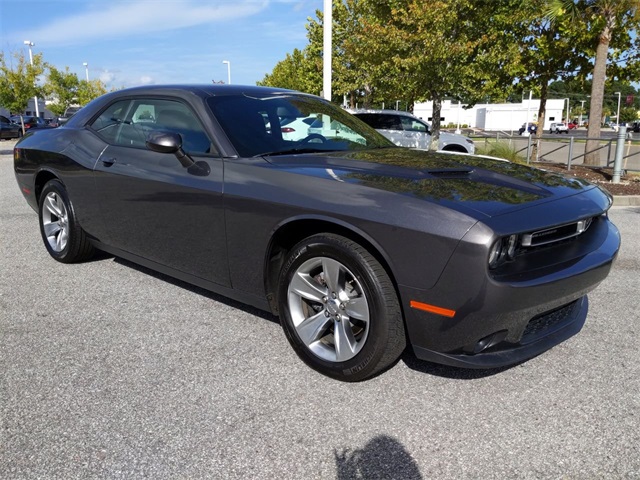
<svg viewBox="0 0 640 480">
<path fill-rule="evenodd" d="M 589 105 L 589 128 L 587 137 L 587 165 L 600 164 L 599 141 L 607 62 L 611 55 L 616 60 L 618 76 L 626 72 L 637 72 L 638 59 L 627 56 L 637 41 L 638 7 L 640 0 L 547 0 L 546 16 L 552 21 L 569 20 L 574 31 L 584 32 L 584 41 L 579 45 L 594 58 L 589 73 L 592 75 L 591 100 Z M 611 53 L 610 53 L 611 52 Z M 618 60 L 624 59 L 618 63 Z M 583 70 L 583 75 L 587 72 Z"/>
</svg>

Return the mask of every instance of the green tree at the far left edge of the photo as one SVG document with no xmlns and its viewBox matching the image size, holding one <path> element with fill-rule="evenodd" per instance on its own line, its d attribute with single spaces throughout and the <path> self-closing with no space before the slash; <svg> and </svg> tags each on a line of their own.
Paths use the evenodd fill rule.
<svg viewBox="0 0 640 480">
<path fill-rule="evenodd" d="M 18 113 L 27 108 L 29 99 L 42 96 L 36 80 L 44 73 L 42 54 L 33 55 L 33 65 L 24 53 L 14 52 L 7 56 L 0 52 L 0 105 L 10 112 Z"/>
</svg>

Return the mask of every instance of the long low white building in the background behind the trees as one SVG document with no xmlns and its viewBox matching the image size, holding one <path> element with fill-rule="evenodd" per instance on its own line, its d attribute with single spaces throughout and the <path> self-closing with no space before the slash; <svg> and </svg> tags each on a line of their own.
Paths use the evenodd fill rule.
<svg viewBox="0 0 640 480">
<path fill-rule="evenodd" d="M 518 131 L 527 119 L 538 121 L 539 99 L 523 100 L 522 103 L 483 103 L 465 110 L 462 105 L 451 100 L 442 102 L 440 122 L 444 125 L 468 125 L 470 128 L 483 130 Z M 413 113 L 428 122 L 433 119 L 433 102 L 416 103 Z M 545 130 L 552 122 L 565 121 L 567 116 L 565 99 L 547 100 L 544 119 Z"/>
</svg>

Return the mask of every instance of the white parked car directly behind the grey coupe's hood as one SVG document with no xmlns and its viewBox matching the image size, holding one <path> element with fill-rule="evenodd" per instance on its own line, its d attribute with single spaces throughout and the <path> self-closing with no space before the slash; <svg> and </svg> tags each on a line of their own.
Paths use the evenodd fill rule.
<svg viewBox="0 0 640 480">
<path fill-rule="evenodd" d="M 399 110 L 349 110 L 375 128 L 396 145 L 428 149 L 431 125 L 409 112 Z M 450 152 L 475 153 L 473 140 L 455 133 L 440 132 L 438 149 Z"/>
</svg>

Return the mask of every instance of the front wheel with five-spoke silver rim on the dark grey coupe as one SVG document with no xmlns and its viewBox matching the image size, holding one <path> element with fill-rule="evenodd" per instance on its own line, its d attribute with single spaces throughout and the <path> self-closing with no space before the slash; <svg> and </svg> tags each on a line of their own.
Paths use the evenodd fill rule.
<svg viewBox="0 0 640 480">
<path fill-rule="evenodd" d="M 327 272 L 334 272 L 334 280 L 327 280 Z M 280 323 L 298 356 L 329 377 L 369 378 L 392 365 L 406 346 L 389 275 L 347 238 L 318 234 L 299 242 L 281 270 L 278 302 Z"/>
</svg>

